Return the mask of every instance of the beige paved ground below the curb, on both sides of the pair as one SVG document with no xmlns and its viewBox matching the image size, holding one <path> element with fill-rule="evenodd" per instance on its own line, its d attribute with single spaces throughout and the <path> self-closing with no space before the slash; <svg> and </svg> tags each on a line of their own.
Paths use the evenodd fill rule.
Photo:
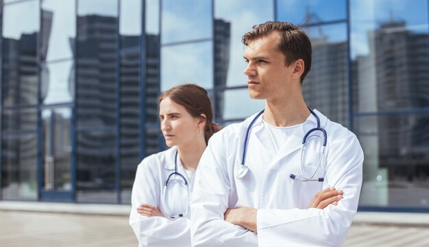
<svg viewBox="0 0 429 247">
<path fill-rule="evenodd" d="M 137 247 L 127 216 L 0 211 L 1 247 Z M 429 246 L 429 226 L 354 224 L 344 247 Z"/>
</svg>

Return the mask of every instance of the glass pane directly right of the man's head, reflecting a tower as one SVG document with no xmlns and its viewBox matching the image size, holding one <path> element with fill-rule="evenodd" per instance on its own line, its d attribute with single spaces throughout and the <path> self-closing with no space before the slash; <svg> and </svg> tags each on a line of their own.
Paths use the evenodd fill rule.
<svg viewBox="0 0 429 247">
<path fill-rule="evenodd" d="M 302 93 L 310 108 L 317 108 L 341 125 L 348 125 L 349 74 L 346 24 L 305 29 L 312 43 L 310 73 Z"/>
</svg>

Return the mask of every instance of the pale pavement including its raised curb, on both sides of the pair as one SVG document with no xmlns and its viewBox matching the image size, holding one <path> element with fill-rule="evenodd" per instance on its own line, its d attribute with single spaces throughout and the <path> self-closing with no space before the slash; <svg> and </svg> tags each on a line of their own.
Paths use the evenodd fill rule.
<svg viewBox="0 0 429 247">
<path fill-rule="evenodd" d="M 1 247 L 137 247 L 129 205 L 0 202 Z M 428 213 L 358 212 L 344 247 L 429 246 Z"/>
</svg>

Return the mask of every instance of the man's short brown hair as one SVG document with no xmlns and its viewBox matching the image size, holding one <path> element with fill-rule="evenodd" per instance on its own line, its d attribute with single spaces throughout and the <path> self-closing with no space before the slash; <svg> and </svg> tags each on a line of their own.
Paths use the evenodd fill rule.
<svg viewBox="0 0 429 247">
<path fill-rule="evenodd" d="M 253 26 L 253 30 L 243 35 L 242 42 L 246 46 L 258 38 L 262 38 L 277 31 L 280 35 L 278 49 L 286 58 L 286 66 L 296 60 L 304 60 L 304 73 L 301 75 L 301 83 L 308 74 L 311 67 L 311 42 L 307 34 L 301 28 L 292 23 L 280 21 L 267 21 L 263 24 Z"/>
</svg>

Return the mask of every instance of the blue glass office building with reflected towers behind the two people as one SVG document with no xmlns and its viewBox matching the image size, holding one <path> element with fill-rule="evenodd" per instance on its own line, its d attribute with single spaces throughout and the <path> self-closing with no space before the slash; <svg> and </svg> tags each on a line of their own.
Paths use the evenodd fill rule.
<svg viewBox="0 0 429 247">
<path fill-rule="evenodd" d="M 130 203 L 165 148 L 160 92 L 197 83 L 221 125 L 247 118 L 241 36 L 290 21 L 313 46 L 306 102 L 363 146 L 360 210 L 429 211 L 428 2 L 0 1 L 0 200 Z"/>
</svg>

